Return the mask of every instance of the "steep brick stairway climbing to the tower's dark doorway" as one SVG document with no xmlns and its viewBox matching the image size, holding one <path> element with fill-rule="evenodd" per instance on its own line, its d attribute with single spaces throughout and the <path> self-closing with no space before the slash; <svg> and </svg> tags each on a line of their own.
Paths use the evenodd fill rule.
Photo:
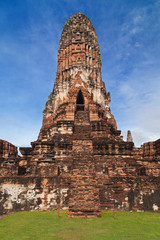
<svg viewBox="0 0 160 240">
<path fill-rule="evenodd" d="M 87 112 L 75 116 L 73 165 L 70 188 L 70 217 L 100 216 L 99 189 Z"/>
</svg>

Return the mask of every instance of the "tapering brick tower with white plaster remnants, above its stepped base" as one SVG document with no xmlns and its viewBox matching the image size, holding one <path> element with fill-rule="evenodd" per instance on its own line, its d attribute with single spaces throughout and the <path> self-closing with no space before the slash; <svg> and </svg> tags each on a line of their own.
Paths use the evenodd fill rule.
<svg viewBox="0 0 160 240">
<path fill-rule="evenodd" d="M 113 118 L 110 93 L 106 94 L 101 77 L 101 55 L 95 29 L 87 16 L 76 13 L 63 28 L 56 80 L 44 109 L 42 128 L 53 123 L 62 104 L 75 109 L 80 102 L 86 110 L 91 104 L 99 104 L 105 114 Z M 74 117 L 70 114 L 68 119 L 73 120 Z"/>
</svg>

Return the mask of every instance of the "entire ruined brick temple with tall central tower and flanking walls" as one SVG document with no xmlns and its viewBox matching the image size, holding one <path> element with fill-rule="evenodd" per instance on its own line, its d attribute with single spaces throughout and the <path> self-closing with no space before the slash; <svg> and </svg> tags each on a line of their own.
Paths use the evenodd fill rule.
<svg viewBox="0 0 160 240">
<path fill-rule="evenodd" d="M 114 97 L 114 96 L 113 96 Z M 69 205 L 70 217 L 118 210 L 160 211 L 160 139 L 134 146 L 110 109 L 95 29 L 82 13 L 65 24 L 53 91 L 38 139 L 22 156 L 0 141 L 0 212 Z"/>
</svg>

